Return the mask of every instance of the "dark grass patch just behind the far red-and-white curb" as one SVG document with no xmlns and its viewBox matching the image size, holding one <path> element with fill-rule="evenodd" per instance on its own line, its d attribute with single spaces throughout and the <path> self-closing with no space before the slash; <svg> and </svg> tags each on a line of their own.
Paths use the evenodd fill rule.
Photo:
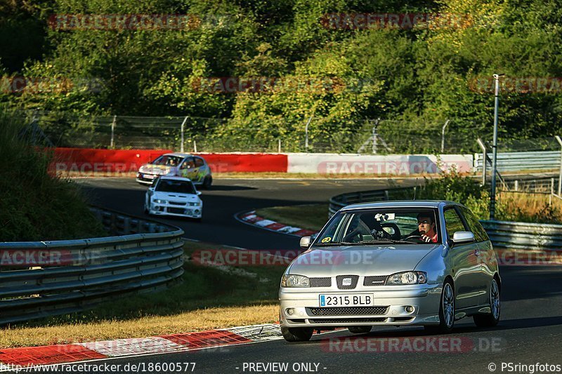
<svg viewBox="0 0 562 374">
<path fill-rule="evenodd" d="M 329 204 L 307 204 L 299 206 L 274 206 L 256 209 L 256 214 L 301 229 L 320 230 L 328 222 Z"/>
</svg>

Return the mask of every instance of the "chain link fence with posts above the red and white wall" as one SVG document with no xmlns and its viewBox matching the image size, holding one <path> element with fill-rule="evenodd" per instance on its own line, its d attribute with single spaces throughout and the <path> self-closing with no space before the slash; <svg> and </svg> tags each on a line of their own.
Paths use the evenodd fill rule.
<svg viewBox="0 0 562 374">
<path fill-rule="evenodd" d="M 191 116 L 79 116 L 33 112 L 37 123 L 57 147 L 105 149 L 174 149 L 178 152 L 311 152 L 360 154 L 471 154 L 481 152 L 473 123 L 416 123 L 386 119 L 355 121 L 346 131 L 307 131 L 306 121 L 287 136 L 257 140 L 256 135 L 218 135 L 234 119 Z M 311 129 L 315 121 L 313 119 Z M 283 123 L 280 122 L 280 127 Z M 351 131 L 350 128 L 355 130 Z M 464 129 L 460 131 L 459 129 Z M 553 138 L 554 139 L 554 138 Z M 505 148 L 551 147 L 551 141 L 511 141 Z M 544 144 L 543 144 L 544 143 Z M 491 149 L 491 148 L 490 148 Z M 500 150 L 500 152 L 502 152 Z"/>
</svg>

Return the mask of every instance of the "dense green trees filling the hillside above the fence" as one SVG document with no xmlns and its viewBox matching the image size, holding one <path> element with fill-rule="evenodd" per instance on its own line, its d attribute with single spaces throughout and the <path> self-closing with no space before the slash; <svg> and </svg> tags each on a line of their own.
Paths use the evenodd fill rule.
<svg viewBox="0 0 562 374">
<path fill-rule="evenodd" d="M 351 30 L 320 22 L 327 13 L 361 12 L 442 13 L 469 21 Z M 197 15 L 198 22 L 185 30 L 49 27 L 51 15 L 87 13 L 179 13 Z M 0 101 L 78 114 L 229 118 L 226 126 L 195 130 L 234 140 L 301 139 L 312 114 L 313 139 L 352 137 L 362 120 L 377 118 L 420 131 L 438 131 L 452 119 L 453 133 L 486 138 L 492 94 L 473 82 L 496 72 L 562 76 L 561 25 L 562 7 L 554 0 L 8 0 L 0 5 L 0 74 L 103 84 L 98 92 L 4 87 Z M 228 76 L 336 84 L 312 92 L 197 89 L 201 79 Z M 500 137 L 558 133 L 559 91 L 504 92 Z"/>
</svg>

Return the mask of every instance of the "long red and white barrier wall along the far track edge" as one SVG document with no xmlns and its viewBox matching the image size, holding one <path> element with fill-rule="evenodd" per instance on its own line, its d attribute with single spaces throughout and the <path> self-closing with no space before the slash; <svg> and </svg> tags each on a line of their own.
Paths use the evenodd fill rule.
<svg viewBox="0 0 562 374">
<path fill-rule="evenodd" d="M 136 172 L 170 150 L 57 148 L 51 170 L 58 172 Z M 280 172 L 320 174 L 436 174 L 456 168 L 473 170 L 471 154 L 265 154 L 202 153 L 214 173 Z"/>
</svg>

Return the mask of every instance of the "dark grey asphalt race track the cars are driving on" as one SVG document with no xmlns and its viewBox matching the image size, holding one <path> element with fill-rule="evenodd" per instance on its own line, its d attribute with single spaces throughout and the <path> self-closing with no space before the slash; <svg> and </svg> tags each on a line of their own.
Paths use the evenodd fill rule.
<svg viewBox="0 0 562 374">
<path fill-rule="evenodd" d="M 80 183 L 100 206 L 143 214 L 145 187 L 131 180 Z M 202 196 L 202 224 L 183 220 L 166 222 L 183 227 L 185 236 L 192 239 L 244 248 L 294 249 L 298 238 L 244 225 L 234 220 L 233 215 L 265 206 L 325 202 L 334 194 L 384 185 L 384 180 L 218 180 Z M 476 328 L 471 319 L 462 319 L 455 323 L 450 335 L 426 336 L 423 328 L 417 327 L 374 328 L 363 335 L 340 330 L 314 335 L 307 343 L 275 340 L 108 362 L 122 365 L 195 362 L 193 373 L 224 374 L 562 372 L 562 267 L 505 266 L 501 274 L 502 321 L 496 328 Z M 265 367 L 256 366 L 257 363 L 287 363 L 288 366 L 282 371 L 276 370 L 278 366 L 262 370 Z M 305 366 L 298 366 L 299 363 Z"/>
</svg>

